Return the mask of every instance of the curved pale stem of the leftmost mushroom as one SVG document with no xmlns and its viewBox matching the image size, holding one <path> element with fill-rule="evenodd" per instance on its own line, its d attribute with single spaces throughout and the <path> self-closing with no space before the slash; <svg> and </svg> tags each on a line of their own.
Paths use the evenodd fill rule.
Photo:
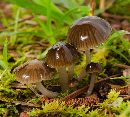
<svg viewBox="0 0 130 117">
<path fill-rule="evenodd" d="M 53 98 L 57 97 L 58 93 L 57 92 L 52 92 L 46 89 L 41 82 L 36 83 L 36 88 L 43 94 L 45 97 Z"/>
</svg>

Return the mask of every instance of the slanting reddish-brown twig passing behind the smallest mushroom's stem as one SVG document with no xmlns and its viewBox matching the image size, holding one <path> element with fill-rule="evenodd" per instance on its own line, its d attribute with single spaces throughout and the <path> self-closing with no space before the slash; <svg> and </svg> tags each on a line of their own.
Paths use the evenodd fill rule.
<svg viewBox="0 0 130 117">
<path fill-rule="evenodd" d="M 110 76 L 110 77 L 102 79 L 102 80 L 99 80 L 95 84 L 97 84 L 99 82 L 102 82 L 102 81 L 110 80 L 110 78 L 116 77 L 118 75 L 119 74 Z M 81 89 L 78 89 L 78 90 L 74 91 L 73 93 L 69 94 L 68 96 L 65 96 L 62 100 L 68 100 L 68 99 L 75 98 L 76 96 L 80 95 L 81 93 L 84 93 L 85 91 L 87 91 L 88 87 L 89 87 L 89 85 L 87 85 L 87 86 L 85 86 L 85 87 L 83 87 Z"/>
</svg>

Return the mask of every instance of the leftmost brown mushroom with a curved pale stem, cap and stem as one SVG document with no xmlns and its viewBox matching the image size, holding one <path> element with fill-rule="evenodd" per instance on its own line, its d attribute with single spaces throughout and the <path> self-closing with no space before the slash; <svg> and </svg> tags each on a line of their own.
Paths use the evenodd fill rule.
<svg viewBox="0 0 130 117">
<path fill-rule="evenodd" d="M 41 83 L 42 80 L 50 80 L 50 76 L 54 72 L 54 69 L 49 68 L 44 61 L 31 60 L 15 68 L 14 72 L 18 82 L 26 85 L 35 83 L 43 96 L 52 98 L 58 95 L 57 92 L 47 90 Z"/>
</svg>

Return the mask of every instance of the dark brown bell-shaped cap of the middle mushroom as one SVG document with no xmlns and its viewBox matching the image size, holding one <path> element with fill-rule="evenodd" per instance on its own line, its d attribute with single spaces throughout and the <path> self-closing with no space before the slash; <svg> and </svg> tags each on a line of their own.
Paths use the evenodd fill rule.
<svg viewBox="0 0 130 117">
<path fill-rule="evenodd" d="M 46 62 L 52 68 L 68 67 L 74 63 L 76 53 L 71 53 L 74 48 L 71 45 L 65 45 L 63 42 L 57 42 L 47 53 Z"/>
</svg>

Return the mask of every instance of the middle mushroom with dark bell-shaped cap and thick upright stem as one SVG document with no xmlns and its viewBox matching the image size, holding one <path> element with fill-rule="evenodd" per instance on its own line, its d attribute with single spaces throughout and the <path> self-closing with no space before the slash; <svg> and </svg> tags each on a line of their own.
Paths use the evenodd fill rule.
<svg viewBox="0 0 130 117">
<path fill-rule="evenodd" d="M 49 67 L 56 68 L 59 71 L 60 85 L 63 91 L 68 90 L 68 74 L 66 68 L 71 68 L 69 77 L 73 75 L 73 64 L 76 58 L 76 49 L 70 44 L 57 42 L 47 53 L 46 62 Z"/>
</svg>

